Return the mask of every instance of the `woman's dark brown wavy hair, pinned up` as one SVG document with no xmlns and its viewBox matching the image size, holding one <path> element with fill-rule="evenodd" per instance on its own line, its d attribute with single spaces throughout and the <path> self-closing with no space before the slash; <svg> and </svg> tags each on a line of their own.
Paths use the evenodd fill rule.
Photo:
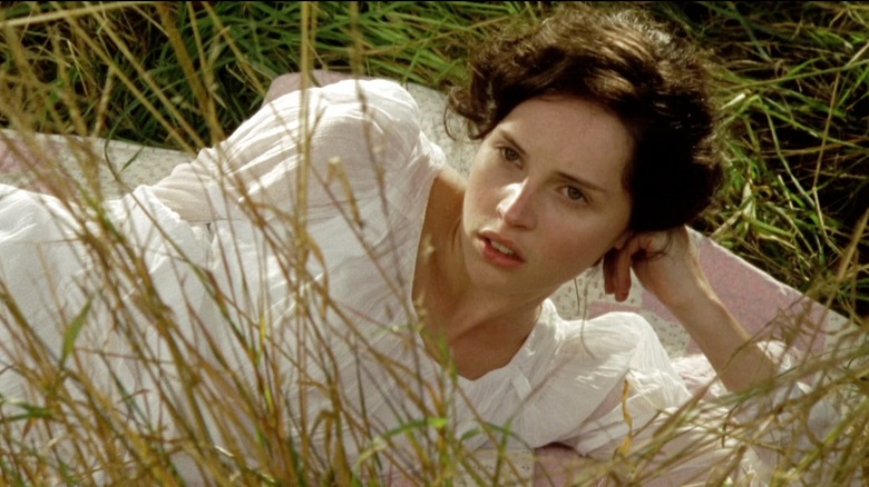
<svg viewBox="0 0 869 487">
<path fill-rule="evenodd" d="M 684 225 L 723 179 L 707 73 L 686 41 L 642 11 L 567 7 L 481 47 L 470 82 L 450 92 L 470 137 L 486 137 L 516 106 L 559 93 L 616 113 L 635 141 L 625 171 L 636 231 Z"/>
</svg>

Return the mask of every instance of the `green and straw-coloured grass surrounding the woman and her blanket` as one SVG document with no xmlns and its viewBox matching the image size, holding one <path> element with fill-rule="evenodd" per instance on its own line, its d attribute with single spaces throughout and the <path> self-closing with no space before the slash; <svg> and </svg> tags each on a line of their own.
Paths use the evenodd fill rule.
<svg viewBox="0 0 869 487">
<path fill-rule="evenodd" d="M 869 455 L 865 419 L 869 370 L 862 359 L 866 344 L 859 338 L 869 327 L 869 4 L 642 6 L 678 26 L 717 62 L 716 93 L 731 136 L 730 179 L 720 203 L 695 227 L 777 279 L 828 304 L 848 318 L 858 337 L 852 349 L 804 368 L 807 374 L 829 372 L 826 392 L 852 394 L 849 400 L 855 407 L 839 431 L 840 438 L 848 439 L 848 454 L 838 475 L 847 478 Z M 463 79 L 462 61 L 471 46 L 548 8 L 548 2 L 7 2 L 0 7 L 0 90 L 4 93 L 0 123 L 25 133 L 95 136 L 194 153 L 224 139 L 250 117 L 277 74 L 328 68 L 447 89 Z M 53 182 L 57 192 L 86 199 L 81 188 Z M 108 244 L 101 241 L 111 241 L 113 235 L 106 223 L 92 236 L 94 247 L 106 248 Z M 114 256 L 107 269 L 136 275 L 135 252 L 124 257 L 106 250 L 106 255 Z M 113 276 L 107 271 L 105 278 L 118 278 Z M 141 289 L 141 296 L 152 295 Z M 173 336 L 167 318 L 152 305 L 137 306 L 156 322 L 166 322 L 166 334 Z M 76 341 L 80 329 L 76 325 L 87 312 L 74 317 L 66 340 Z M 33 354 L 39 350 L 38 344 L 28 346 Z M 263 421 L 263 430 L 268 421 L 280 420 L 280 405 L 262 409 L 256 399 L 266 391 L 279 397 L 267 380 L 258 388 L 223 381 L 213 387 L 191 397 L 192 407 L 241 388 L 250 401 L 247 410 Z M 163 445 L 153 439 L 158 435 L 143 434 L 108 413 L 90 418 L 100 409 L 96 392 L 89 396 L 89 405 L 78 402 L 74 391 L 61 392 L 58 400 L 71 408 L 64 410 L 75 413 L 69 428 L 82 435 L 75 455 L 82 465 L 95 451 L 101 451 L 98 463 L 102 465 L 126 465 L 131 455 L 143 478 L 174 481 L 168 451 L 179 446 Z M 22 417 L 33 421 L 56 413 L 50 405 L 25 406 Z M 90 429 L 74 428 L 76 419 Z M 187 427 L 193 437 L 201 430 L 196 424 Z M 233 470 L 226 467 L 232 461 L 214 451 L 188 450 L 196 451 L 199 465 L 226 484 L 240 481 L 221 476 L 231 470 L 247 483 L 264 484 L 311 475 L 304 451 L 287 451 L 281 438 L 264 435 L 261 446 L 283 456 L 270 454 L 263 459 L 285 460 L 272 471 L 237 466 Z M 118 446 L 107 437 L 126 440 Z M 0 450 L 13 439 L 0 435 Z M 453 448 L 453 455 L 461 457 L 459 447 L 443 441 L 441 448 Z M 419 446 L 417 453 L 428 458 L 422 464 L 429 478 L 449 478 L 451 474 L 439 470 L 426 448 Z M 0 478 L 28 485 L 50 474 L 64 483 L 80 481 L 78 467 L 35 455 L 36 466 L 25 461 L 10 466 L 0 456 Z M 805 458 L 804 465 L 781 475 L 818 465 L 817 458 Z M 111 473 L 116 479 L 127 475 L 121 468 Z M 338 468 L 318 475 L 325 483 L 346 480 L 348 473 Z"/>
</svg>

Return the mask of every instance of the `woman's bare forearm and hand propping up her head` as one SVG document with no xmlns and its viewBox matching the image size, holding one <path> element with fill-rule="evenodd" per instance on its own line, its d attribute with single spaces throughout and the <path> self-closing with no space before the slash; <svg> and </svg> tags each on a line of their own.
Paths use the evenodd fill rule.
<svg viewBox="0 0 869 487">
<path fill-rule="evenodd" d="M 775 375 L 775 364 L 710 286 L 685 227 L 635 235 L 606 256 L 606 291 L 619 301 L 631 289 L 632 268 L 687 329 L 729 390 L 745 390 Z"/>
</svg>

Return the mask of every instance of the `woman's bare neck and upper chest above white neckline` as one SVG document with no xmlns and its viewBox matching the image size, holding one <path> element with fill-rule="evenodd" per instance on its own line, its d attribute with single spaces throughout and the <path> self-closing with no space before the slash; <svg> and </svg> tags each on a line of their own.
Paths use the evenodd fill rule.
<svg viewBox="0 0 869 487">
<path fill-rule="evenodd" d="M 517 300 L 477 289 L 461 249 L 463 180 L 441 172 L 429 196 L 413 281 L 413 302 L 429 354 L 477 378 L 507 365 L 539 316 L 543 299 Z"/>
</svg>

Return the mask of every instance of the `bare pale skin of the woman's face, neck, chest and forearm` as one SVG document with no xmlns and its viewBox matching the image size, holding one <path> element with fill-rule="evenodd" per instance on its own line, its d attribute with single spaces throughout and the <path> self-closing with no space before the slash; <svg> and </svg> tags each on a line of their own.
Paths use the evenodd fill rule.
<svg viewBox="0 0 869 487">
<path fill-rule="evenodd" d="M 452 170 L 437 177 L 413 282 L 430 355 L 446 361 L 446 345 L 467 379 L 504 367 L 540 304 L 606 256 L 607 292 L 624 300 L 633 268 L 728 389 L 772 377 L 774 364 L 715 296 L 686 229 L 628 228 L 622 175 L 632 150 L 605 108 L 550 96 L 520 103 L 484 139 L 467 181 Z"/>
</svg>

